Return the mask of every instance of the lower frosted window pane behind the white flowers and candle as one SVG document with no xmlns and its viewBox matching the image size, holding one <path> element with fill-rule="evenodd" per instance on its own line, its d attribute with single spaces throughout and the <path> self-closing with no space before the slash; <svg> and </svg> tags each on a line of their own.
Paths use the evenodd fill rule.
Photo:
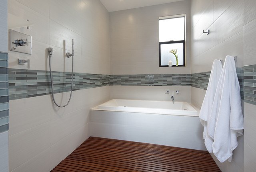
<svg viewBox="0 0 256 172">
<path fill-rule="evenodd" d="M 178 49 L 178 61 L 179 65 L 184 65 L 183 61 L 183 43 L 170 43 L 161 44 L 161 65 L 168 65 L 169 61 L 172 61 L 172 65 L 176 65 L 176 58 L 174 54 L 170 53 L 171 49 Z"/>
</svg>

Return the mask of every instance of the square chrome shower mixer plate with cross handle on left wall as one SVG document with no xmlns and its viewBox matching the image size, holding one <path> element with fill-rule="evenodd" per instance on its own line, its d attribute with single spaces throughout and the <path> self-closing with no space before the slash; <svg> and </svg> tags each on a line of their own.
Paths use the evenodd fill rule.
<svg viewBox="0 0 256 172">
<path fill-rule="evenodd" d="M 10 29 L 10 51 L 31 54 L 32 37 L 18 31 Z"/>
</svg>

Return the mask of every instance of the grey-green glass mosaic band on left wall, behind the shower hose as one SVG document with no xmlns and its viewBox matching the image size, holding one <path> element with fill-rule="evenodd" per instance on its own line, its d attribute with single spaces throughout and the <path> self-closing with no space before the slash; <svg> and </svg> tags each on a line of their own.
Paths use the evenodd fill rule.
<svg viewBox="0 0 256 172">
<path fill-rule="evenodd" d="M 50 72 L 44 70 L 8 69 L 10 100 L 51 94 Z M 54 93 L 69 92 L 71 72 L 52 72 Z M 73 90 L 109 85 L 109 75 L 74 73 Z"/>
</svg>

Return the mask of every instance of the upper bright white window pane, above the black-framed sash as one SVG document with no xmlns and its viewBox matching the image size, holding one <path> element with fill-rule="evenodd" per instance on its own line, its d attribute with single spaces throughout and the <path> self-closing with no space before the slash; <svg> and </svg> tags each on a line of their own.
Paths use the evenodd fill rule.
<svg viewBox="0 0 256 172">
<path fill-rule="evenodd" d="M 159 42 L 185 40 L 185 17 L 159 20 Z"/>
</svg>

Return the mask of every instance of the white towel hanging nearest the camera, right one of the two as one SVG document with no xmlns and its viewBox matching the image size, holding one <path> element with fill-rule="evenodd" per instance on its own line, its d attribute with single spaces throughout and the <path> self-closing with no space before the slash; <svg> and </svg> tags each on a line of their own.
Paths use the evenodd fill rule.
<svg viewBox="0 0 256 172">
<path fill-rule="evenodd" d="M 217 102 L 218 109 L 212 150 L 220 162 L 227 159 L 231 162 L 232 151 L 238 145 L 237 137 L 243 135 L 244 129 L 240 86 L 234 57 L 226 56 L 214 102 Z"/>
</svg>

